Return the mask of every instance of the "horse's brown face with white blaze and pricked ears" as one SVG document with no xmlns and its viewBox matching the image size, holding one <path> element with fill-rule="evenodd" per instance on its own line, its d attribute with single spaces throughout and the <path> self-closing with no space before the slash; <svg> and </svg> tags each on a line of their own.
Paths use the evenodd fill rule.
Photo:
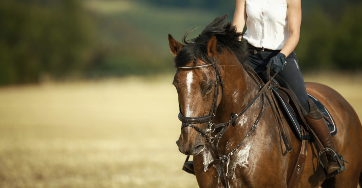
<svg viewBox="0 0 362 188">
<path fill-rule="evenodd" d="M 197 48 L 196 45 L 199 44 L 188 44 L 185 47 L 174 40 L 171 35 L 169 35 L 169 44 L 171 52 L 178 58 L 178 60 L 175 58 L 175 61 L 185 61 L 184 59 L 187 59 L 187 62 L 184 62 L 185 66 L 178 66 L 173 80 L 180 104 L 179 117 L 190 119 L 209 116 L 209 119 L 193 122 L 191 126 L 198 127 L 198 129 L 186 125 L 192 123 L 191 121 L 184 121 L 180 138 L 176 142 L 180 152 L 185 155 L 197 155 L 205 148 L 205 136 L 211 130 L 210 127 L 208 129 L 212 118 L 210 113 L 213 113 L 213 108 L 216 109 L 222 98 L 222 87 L 215 86 L 215 80 L 218 77 L 218 75 L 215 75 L 216 70 L 213 66 L 208 66 L 212 65 L 210 62 L 205 61 L 205 59 L 210 60 L 218 55 L 216 37 L 212 35 L 207 42 L 207 58 L 185 58 L 188 50 Z"/>
</svg>

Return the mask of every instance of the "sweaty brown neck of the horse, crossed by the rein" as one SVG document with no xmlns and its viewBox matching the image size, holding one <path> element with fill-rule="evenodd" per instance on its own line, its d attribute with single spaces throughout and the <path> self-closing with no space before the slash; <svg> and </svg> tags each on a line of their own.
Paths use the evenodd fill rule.
<svg viewBox="0 0 362 188">
<path fill-rule="evenodd" d="M 259 91 L 258 84 L 253 80 L 251 75 L 243 68 L 236 57 L 229 56 L 224 66 L 224 91 L 222 101 L 218 108 L 219 121 L 226 122 L 230 120 L 230 115 L 243 111 L 252 101 Z M 219 149 L 222 153 L 228 153 L 237 146 L 240 138 L 248 134 L 254 121 L 261 110 L 261 98 L 237 120 L 236 126 L 230 126 L 220 139 Z"/>
</svg>

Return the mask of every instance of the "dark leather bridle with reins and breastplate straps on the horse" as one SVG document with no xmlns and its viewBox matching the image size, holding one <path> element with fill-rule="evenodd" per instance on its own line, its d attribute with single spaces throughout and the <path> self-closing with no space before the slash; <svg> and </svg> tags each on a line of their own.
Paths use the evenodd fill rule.
<svg viewBox="0 0 362 188">
<path fill-rule="evenodd" d="M 197 130 L 200 134 L 202 134 L 203 136 L 205 136 L 207 142 L 210 143 L 210 147 L 211 147 L 211 151 L 214 154 L 215 160 L 217 161 L 221 161 L 223 166 L 224 166 L 224 180 L 225 180 L 225 185 L 226 187 L 230 187 L 229 185 L 229 178 L 227 176 L 228 174 L 228 169 L 227 169 L 227 164 L 230 162 L 230 157 L 241 147 L 243 146 L 243 144 L 247 141 L 247 139 L 253 134 L 253 132 L 255 131 L 255 129 L 257 128 L 258 122 L 264 112 L 265 109 L 265 103 L 266 103 L 266 96 L 265 96 L 265 91 L 268 89 L 271 89 L 270 86 L 270 82 L 271 80 L 273 80 L 273 78 L 275 77 L 275 75 L 273 77 L 270 78 L 270 67 L 268 67 L 267 70 L 267 76 L 268 78 L 270 78 L 268 80 L 268 82 L 266 82 L 263 86 L 260 85 L 260 83 L 258 82 L 258 80 L 256 79 L 256 77 L 253 77 L 253 79 L 257 82 L 257 84 L 260 86 L 260 90 L 257 93 L 257 95 L 251 100 L 251 102 L 249 102 L 249 104 L 243 109 L 243 111 L 241 111 L 240 113 L 236 114 L 235 112 L 232 113 L 231 118 L 229 121 L 224 122 L 224 123 L 219 123 L 219 124 L 214 124 L 213 120 L 216 116 L 216 108 L 217 108 L 217 99 L 218 99 L 218 95 L 219 95 L 219 85 L 221 85 L 222 89 L 223 89 L 223 80 L 222 80 L 222 75 L 218 69 L 217 63 L 218 61 L 216 61 L 216 58 L 212 58 L 213 59 L 213 63 L 210 64 L 203 64 L 203 65 L 199 65 L 199 66 L 186 66 L 186 67 L 177 67 L 179 69 L 184 69 L 184 70 L 194 70 L 194 69 L 198 69 L 198 68 L 205 68 L 205 67 L 214 67 L 215 70 L 215 93 L 214 93 L 214 101 L 212 102 L 212 106 L 210 109 L 210 113 L 209 115 L 206 116 L 199 116 L 199 117 L 186 117 L 184 115 L 182 115 L 181 112 L 181 107 L 180 107 L 180 113 L 178 114 L 178 119 L 180 119 L 180 121 L 183 123 L 181 126 L 181 130 L 184 127 L 192 127 L 195 130 Z M 260 97 L 262 96 L 262 109 L 256 119 L 256 121 L 254 122 L 254 125 L 252 126 L 252 128 L 250 129 L 249 133 L 244 137 L 244 139 L 227 155 L 219 155 L 218 152 L 218 144 L 219 144 L 219 140 L 222 138 L 222 136 L 224 135 L 224 133 L 226 132 L 226 130 L 230 127 L 230 125 L 234 124 L 237 119 L 243 115 L 251 106 L 252 104 Z M 202 124 L 202 123 L 206 123 L 208 122 L 207 125 L 207 129 L 204 131 L 201 128 L 194 126 L 193 124 Z M 220 128 L 220 131 L 218 133 L 216 133 L 214 136 L 211 136 L 211 133 L 213 133 L 215 131 L 215 129 Z M 186 161 L 188 160 L 188 158 L 186 159 Z M 221 178 L 221 177 L 220 177 Z"/>
</svg>

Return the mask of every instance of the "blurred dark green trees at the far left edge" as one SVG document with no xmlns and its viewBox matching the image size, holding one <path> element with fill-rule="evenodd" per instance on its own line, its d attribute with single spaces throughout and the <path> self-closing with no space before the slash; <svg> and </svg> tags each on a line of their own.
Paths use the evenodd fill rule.
<svg viewBox="0 0 362 188">
<path fill-rule="evenodd" d="M 79 72 L 94 26 L 81 1 L 0 1 L 0 84 L 38 82 Z"/>
</svg>

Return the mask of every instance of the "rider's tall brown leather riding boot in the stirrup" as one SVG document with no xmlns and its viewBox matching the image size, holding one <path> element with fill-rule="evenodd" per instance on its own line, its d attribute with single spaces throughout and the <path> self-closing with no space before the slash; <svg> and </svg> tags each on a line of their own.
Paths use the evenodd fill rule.
<svg viewBox="0 0 362 188">
<path fill-rule="evenodd" d="M 329 151 L 325 152 L 328 160 L 327 172 L 331 174 L 328 178 L 332 178 L 334 175 L 340 174 L 345 171 L 345 167 L 343 165 L 343 161 L 341 161 L 341 157 L 337 151 L 337 148 L 334 146 L 332 135 L 328 129 L 327 123 L 325 122 L 321 112 L 318 110 L 317 106 L 313 103 L 311 99 L 308 99 L 310 111 L 304 116 L 310 125 L 310 127 L 314 130 L 319 140 L 323 144 L 325 148 L 332 149 L 337 156 L 334 156 L 334 153 Z M 338 164 L 341 164 L 341 166 Z"/>
</svg>

